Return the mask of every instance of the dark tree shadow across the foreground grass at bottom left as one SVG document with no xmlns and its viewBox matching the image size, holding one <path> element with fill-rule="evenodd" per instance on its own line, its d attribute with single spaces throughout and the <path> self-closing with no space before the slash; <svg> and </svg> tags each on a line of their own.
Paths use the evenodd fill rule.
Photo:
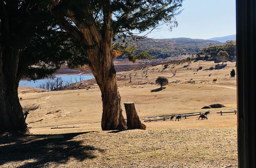
<svg viewBox="0 0 256 168">
<path fill-rule="evenodd" d="M 13 141 L 7 135 L 0 136 L 0 167 L 11 161 L 26 161 L 29 159 L 34 159 L 35 161 L 27 162 L 19 167 L 43 167 L 50 162 L 66 163 L 70 158 L 75 158 L 79 161 L 95 158 L 93 151 L 103 152 L 102 149 L 84 146 L 82 141 L 73 140 L 75 136 L 84 133 L 88 132 L 55 136 L 33 135 L 38 138 L 25 141 Z"/>
</svg>

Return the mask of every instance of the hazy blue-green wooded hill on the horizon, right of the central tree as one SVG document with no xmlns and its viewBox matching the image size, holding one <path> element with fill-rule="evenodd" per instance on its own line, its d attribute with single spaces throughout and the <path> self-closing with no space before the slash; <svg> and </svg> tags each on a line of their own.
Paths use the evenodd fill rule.
<svg viewBox="0 0 256 168">
<path fill-rule="evenodd" d="M 153 39 L 139 42 L 143 50 L 155 55 L 156 58 L 178 57 L 179 55 L 196 54 L 209 44 L 220 45 L 221 42 L 203 39 L 172 38 Z"/>
</svg>

